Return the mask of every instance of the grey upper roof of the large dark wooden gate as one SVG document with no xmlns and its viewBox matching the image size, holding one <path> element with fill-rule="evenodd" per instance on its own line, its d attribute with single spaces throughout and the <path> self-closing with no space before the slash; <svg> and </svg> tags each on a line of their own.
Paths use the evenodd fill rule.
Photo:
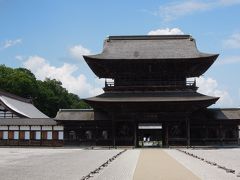
<svg viewBox="0 0 240 180">
<path fill-rule="evenodd" d="M 190 35 L 109 36 L 93 59 L 190 59 L 216 57 L 199 52 Z"/>
</svg>

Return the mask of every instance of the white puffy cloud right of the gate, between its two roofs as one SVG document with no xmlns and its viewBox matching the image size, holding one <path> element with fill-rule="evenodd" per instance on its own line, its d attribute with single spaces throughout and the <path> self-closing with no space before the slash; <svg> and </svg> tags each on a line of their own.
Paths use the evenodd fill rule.
<svg viewBox="0 0 240 180">
<path fill-rule="evenodd" d="M 198 92 L 209 96 L 220 97 L 216 106 L 231 107 L 233 105 L 233 100 L 229 93 L 226 90 L 220 90 L 215 79 L 200 77 L 197 78 L 196 81 L 199 87 Z"/>
</svg>

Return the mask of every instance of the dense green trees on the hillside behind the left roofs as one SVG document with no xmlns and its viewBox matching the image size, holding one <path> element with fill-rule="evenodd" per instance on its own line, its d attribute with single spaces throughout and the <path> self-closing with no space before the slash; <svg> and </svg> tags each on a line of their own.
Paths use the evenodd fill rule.
<svg viewBox="0 0 240 180">
<path fill-rule="evenodd" d="M 59 109 L 90 108 L 77 95 L 69 93 L 55 79 L 37 80 L 25 68 L 0 65 L 0 89 L 25 98 L 32 98 L 34 105 L 49 117 L 55 117 Z"/>
</svg>

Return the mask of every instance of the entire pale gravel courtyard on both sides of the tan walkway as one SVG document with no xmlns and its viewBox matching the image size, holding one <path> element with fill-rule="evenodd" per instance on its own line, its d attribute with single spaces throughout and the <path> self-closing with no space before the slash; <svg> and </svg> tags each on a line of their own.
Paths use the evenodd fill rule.
<svg viewBox="0 0 240 180">
<path fill-rule="evenodd" d="M 205 160 L 236 170 L 235 174 L 207 164 L 175 149 L 164 149 L 171 157 L 204 180 L 240 180 L 240 149 L 182 149 Z M 122 149 L 84 150 L 77 148 L 0 148 L 0 179 L 80 180 Z M 127 150 L 94 180 L 130 180 L 142 150 Z M 174 172 L 174 170 L 172 170 Z"/>
</svg>

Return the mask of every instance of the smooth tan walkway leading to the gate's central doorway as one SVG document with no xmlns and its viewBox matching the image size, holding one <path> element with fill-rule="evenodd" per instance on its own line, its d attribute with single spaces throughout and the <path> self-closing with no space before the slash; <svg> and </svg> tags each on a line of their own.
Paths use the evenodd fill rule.
<svg viewBox="0 0 240 180">
<path fill-rule="evenodd" d="M 160 149 L 141 150 L 134 180 L 199 180 L 191 171 Z"/>
</svg>

